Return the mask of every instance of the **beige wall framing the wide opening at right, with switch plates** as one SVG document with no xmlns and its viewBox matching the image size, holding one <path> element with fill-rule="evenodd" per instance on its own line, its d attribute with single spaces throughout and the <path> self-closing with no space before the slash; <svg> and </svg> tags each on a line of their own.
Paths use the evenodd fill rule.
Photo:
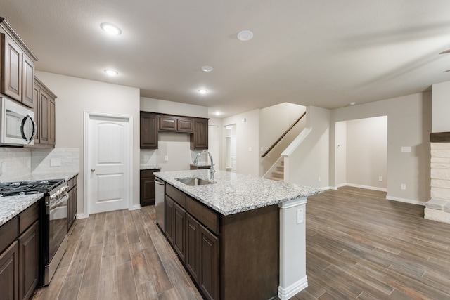
<svg viewBox="0 0 450 300">
<path fill-rule="evenodd" d="M 331 113 L 330 185 L 335 178 L 335 122 L 387 116 L 387 199 L 412 203 L 430 200 L 431 93 L 353 105 Z M 409 146 L 412 152 L 401 152 Z M 401 183 L 406 190 L 401 190 Z"/>
</svg>

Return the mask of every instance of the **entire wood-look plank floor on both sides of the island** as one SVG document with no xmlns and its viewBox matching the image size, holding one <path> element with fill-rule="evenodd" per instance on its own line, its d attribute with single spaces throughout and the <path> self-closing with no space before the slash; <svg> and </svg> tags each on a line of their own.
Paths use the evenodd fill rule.
<svg viewBox="0 0 450 300">
<path fill-rule="evenodd" d="M 385 197 L 350 187 L 309 197 L 309 286 L 293 299 L 450 299 L 450 225 Z M 153 220 L 154 207 L 77 220 L 32 299 L 202 299 Z"/>
</svg>

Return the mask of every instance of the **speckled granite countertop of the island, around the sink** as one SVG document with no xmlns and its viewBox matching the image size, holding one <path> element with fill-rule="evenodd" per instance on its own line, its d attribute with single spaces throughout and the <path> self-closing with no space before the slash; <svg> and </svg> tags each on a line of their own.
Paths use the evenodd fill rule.
<svg viewBox="0 0 450 300">
<path fill-rule="evenodd" d="M 216 171 L 214 184 L 189 186 L 176 181 L 176 178 L 194 177 L 209 181 L 207 169 L 155 172 L 155 176 L 225 216 L 323 193 L 320 188 L 226 171 Z"/>
</svg>

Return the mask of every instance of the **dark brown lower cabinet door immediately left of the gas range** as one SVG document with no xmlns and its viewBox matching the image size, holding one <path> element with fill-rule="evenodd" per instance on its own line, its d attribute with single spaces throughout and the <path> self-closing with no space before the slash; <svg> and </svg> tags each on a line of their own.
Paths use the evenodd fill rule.
<svg viewBox="0 0 450 300">
<path fill-rule="evenodd" d="M 37 285 L 39 254 L 39 222 L 18 238 L 19 242 L 19 299 L 30 299 Z"/>
</svg>

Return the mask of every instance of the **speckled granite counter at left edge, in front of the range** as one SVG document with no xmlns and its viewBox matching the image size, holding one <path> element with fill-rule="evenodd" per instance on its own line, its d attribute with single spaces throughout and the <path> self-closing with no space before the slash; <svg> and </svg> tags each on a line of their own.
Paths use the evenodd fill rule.
<svg viewBox="0 0 450 300">
<path fill-rule="evenodd" d="M 0 226 L 37 202 L 44 194 L 0 197 Z"/>
</svg>

